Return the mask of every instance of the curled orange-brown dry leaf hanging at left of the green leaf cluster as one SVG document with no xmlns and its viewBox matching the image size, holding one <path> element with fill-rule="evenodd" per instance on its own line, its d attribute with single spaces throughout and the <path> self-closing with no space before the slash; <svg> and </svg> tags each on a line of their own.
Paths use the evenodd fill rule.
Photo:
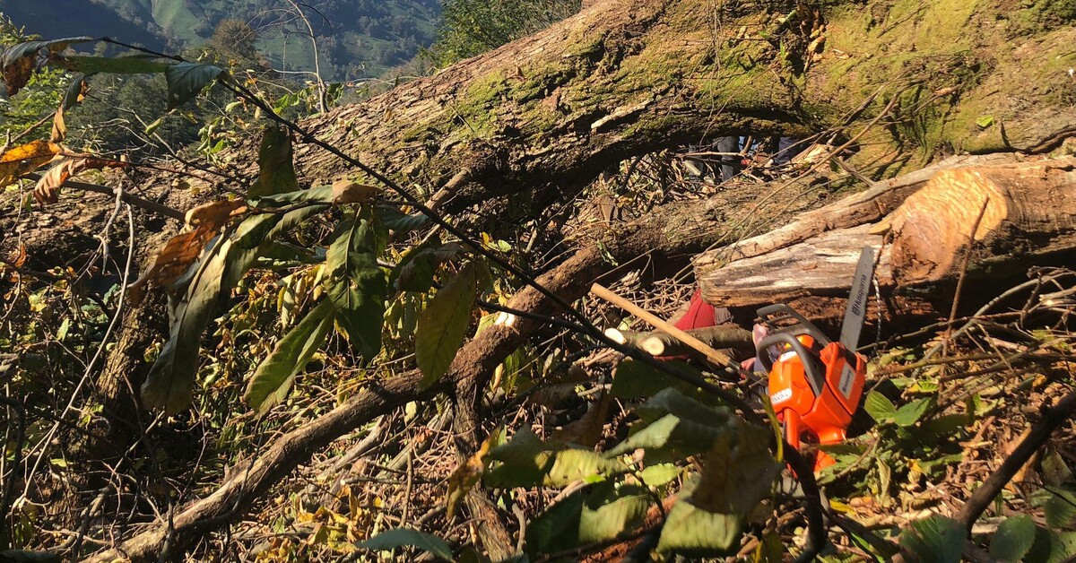
<svg viewBox="0 0 1076 563">
<path fill-rule="evenodd" d="M 157 252 L 153 265 L 131 284 L 131 300 L 141 301 L 150 283 L 165 287 L 174 282 L 231 217 L 245 212 L 246 203 L 241 199 L 221 199 L 187 211 L 186 230 L 169 239 Z"/>
</svg>

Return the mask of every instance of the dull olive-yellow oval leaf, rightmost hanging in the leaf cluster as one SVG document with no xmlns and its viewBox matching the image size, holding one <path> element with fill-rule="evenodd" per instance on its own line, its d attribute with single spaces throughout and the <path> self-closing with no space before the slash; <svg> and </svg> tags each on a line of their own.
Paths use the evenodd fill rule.
<svg viewBox="0 0 1076 563">
<path fill-rule="evenodd" d="M 422 369 L 423 389 L 448 372 L 452 360 L 456 357 L 467 337 L 477 292 L 477 269 L 473 264 L 468 264 L 434 295 L 419 315 L 414 356 Z"/>
</svg>

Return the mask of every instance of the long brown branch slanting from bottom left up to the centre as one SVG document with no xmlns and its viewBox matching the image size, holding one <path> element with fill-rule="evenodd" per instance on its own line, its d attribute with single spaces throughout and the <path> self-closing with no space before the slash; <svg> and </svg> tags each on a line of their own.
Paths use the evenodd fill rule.
<svg viewBox="0 0 1076 563">
<path fill-rule="evenodd" d="M 605 243 L 604 251 L 598 247 L 580 250 L 541 276 L 538 282 L 571 301 L 585 295 L 591 283 L 613 267 L 607 256 L 626 262 L 647 253 L 698 252 L 722 236 L 723 224 L 724 214 L 717 206 L 672 203 L 654 210 L 643 221 L 625 225 L 618 238 Z M 557 309 L 551 299 L 533 287 L 521 290 L 509 300 L 508 307 L 541 314 Z M 367 388 L 328 414 L 281 436 L 250 464 L 229 469 L 227 473 L 232 478 L 213 494 L 178 510 L 170 523 L 152 524 L 116 548 L 96 553 L 89 561 L 157 560 L 162 557 L 166 546 L 171 554 L 179 553 L 204 534 L 240 518 L 260 495 L 306 463 L 314 452 L 374 418 L 409 402 L 428 399 L 452 390 L 457 390 L 456 400 L 473 404 L 496 367 L 542 325 L 537 320 L 509 315 L 504 322 L 483 329 L 461 349 L 441 382 L 428 390 L 420 390 L 422 375 L 417 370 Z M 475 442 L 478 428 L 473 421 L 470 425 L 465 421 L 456 428 L 467 430 L 465 444 Z"/>
</svg>

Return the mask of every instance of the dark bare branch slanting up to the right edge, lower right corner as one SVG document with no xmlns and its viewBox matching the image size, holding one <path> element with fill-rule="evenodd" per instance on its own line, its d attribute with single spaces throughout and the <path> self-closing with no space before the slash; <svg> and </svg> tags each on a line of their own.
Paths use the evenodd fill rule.
<svg viewBox="0 0 1076 563">
<path fill-rule="evenodd" d="M 967 502 L 960 509 L 957 520 L 964 524 L 968 533 L 971 533 L 975 521 L 990 506 L 990 503 L 994 501 L 994 497 L 997 496 L 1002 488 L 1008 484 L 1013 476 L 1046 444 L 1046 440 L 1050 438 L 1053 431 L 1067 421 L 1074 412 L 1076 412 L 1076 392 L 1068 393 L 1056 405 L 1043 410 L 1042 420 L 1031 428 L 1028 436 L 1020 441 L 1020 445 L 1013 450 L 1013 453 L 1005 459 L 1005 462 L 997 469 L 994 469 L 994 473 L 990 474 L 990 477 L 982 482 L 982 485 L 972 493 L 972 496 L 967 498 Z"/>
</svg>

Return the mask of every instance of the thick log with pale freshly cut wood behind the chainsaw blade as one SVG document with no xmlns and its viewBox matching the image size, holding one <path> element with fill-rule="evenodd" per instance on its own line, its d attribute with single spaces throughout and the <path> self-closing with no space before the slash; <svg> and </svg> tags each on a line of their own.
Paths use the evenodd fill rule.
<svg viewBox="0 0 1076 563">
<path fill-rule="evenodd" d="M 923 174 L 896 179 L 705 254 L 696 263 L 703 297 L 739 308 L 796 301 L 807 314 L 832 316 L 827 309 L 847 296 L 865 245 L 881 250 L 875 277 L 890 296 L 951 286 L 965 262 L 968 279 L 996 279 L 1076 251 L 1076 159 L 962 159 L 931 172 L 929 181 Z M 951 295 L 935 297 L 945 301 Z M 905 313 L 931 312 L 922 299 L 905 302 Z"/>
</svg>

